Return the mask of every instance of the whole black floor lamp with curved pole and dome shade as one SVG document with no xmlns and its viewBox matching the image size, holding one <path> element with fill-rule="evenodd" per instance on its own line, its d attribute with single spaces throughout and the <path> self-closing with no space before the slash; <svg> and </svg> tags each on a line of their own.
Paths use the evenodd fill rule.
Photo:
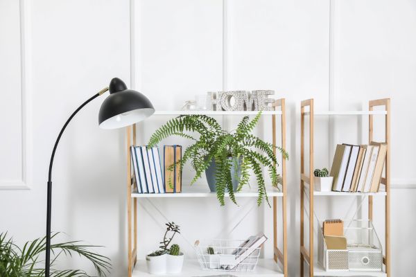
<svg viewBox="0 0 416 277">
<path fill-rule="evenodd" d="M 98 113 L 98 124 L 103 129 L 116 129 L 132 125 L 145 118 L 148 118 L 155 112 L 155 108 L 146 96 L 127 89 L 125 83 L 119 78 L 113 78 L 109 87 L 105 87 L 98 91 L 94 96 L 85 101 L 78 109 L 76 109 L 71 116 L 69 116 L 67 122 L 64 124 L 58 138 L 53 146 L 51 162 L 49 163 L 49 178 L 48 178 L 48 196 L 47 196 L 47 208 L 46 208 L 46 260 L 45 260 L 45 276 L 49 277 L 49 271 L 51 267 L 51 206 L 52 206 L 52 166 L 53 157 L 55 157 L 55 151 L 58 147 L 58 143 L 64 132 L 65 128 L 80 109 L 82 109 L 89 102 L 103 95 L 106 91 L 110 91 L 103 104 L 101 105 Z"/>
</svg>

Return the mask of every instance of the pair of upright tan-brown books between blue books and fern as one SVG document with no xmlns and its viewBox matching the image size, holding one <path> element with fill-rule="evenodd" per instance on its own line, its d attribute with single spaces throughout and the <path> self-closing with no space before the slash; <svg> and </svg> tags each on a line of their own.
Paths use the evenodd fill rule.
<svg viewBox="0 0 416 277">
<path fill-rule="evenodd" d="M 182 192 L 181 159 L 182 146 L 164 145 L 164 190 L 166 193 Z"/>
</svg>

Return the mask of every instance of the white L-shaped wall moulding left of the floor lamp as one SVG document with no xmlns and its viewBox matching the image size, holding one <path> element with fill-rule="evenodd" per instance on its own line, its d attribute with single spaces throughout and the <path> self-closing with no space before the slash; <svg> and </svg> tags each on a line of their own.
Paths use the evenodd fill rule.
<svg viewBox="0 0 416 277">
<path fill-rule="evenodd" d="M 32 184 L 32 101 L 31 101 L 31 44 L 30 1 L 19 1 L 20 71 L 21 71 L 21 179 L 0 180 L 0 190 L 31 189 Z"/>
</svg>

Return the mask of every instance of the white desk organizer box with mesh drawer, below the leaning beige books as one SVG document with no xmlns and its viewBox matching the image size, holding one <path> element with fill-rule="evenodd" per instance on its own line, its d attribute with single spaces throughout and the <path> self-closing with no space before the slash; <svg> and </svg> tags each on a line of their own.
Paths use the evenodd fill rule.
<svg viewBox="0 0 416 277">
<path fill-rule="evenodd" d="M 383 249 L 369 220 L 344 222 L 347 250 L 327 249 L 322 230 L 318 235 L 318 260 L 327 271 L 381 271 Z"/>
</svg>

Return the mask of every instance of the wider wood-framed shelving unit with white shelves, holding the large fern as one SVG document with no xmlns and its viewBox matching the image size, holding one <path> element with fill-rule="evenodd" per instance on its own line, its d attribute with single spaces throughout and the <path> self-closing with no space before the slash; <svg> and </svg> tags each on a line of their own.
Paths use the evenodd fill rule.
<svg viewBox="0 0 416 277">
<path fill-rule="evenodd" d="M 285 100 L 277 99 L 272 103 L 273 111 L 262 111 L 263 116 L 272 116 L 272 144 L 277 145 L 277 129 L 276 116 L 281 117 L 281 147 L 286 148 L 286 108 Z M 202 114 L 207 116 L 255 116 L 259 111 L 156 111 L 157 116 L 180 116 Z M 137 202 L 143 198 L 187 198 L 187 197 L 216 197 L 216 193 L 210 193 L 207 185 L 200 186 L 195 184 L 193 186 L 182 187 L 182 193 L 161 193 L 161 194 L 139 194 L 132 190 L 134 178 L 132 178 L 132 165 L 130 159 L 130 145 L 137 145 L 136 138 L 137 125 L 127 127 L 127 206 L 128 206 L 128 277 L 132 276 L 154 276 L 147 273 L 146 261 L 137 259 Z M 272 259 L 259 260 L 259 264 L 254 272 L 236 272 L 236 271 L 206 271 L 200 268 L 197 260 L 187 260 L 187 253 L 185 253 L 184 268 L 180 274 L 170 274 L 166 276 L 209 276 L 230 274 L 232 276 L 270 276 L 288 277 L 287 270 L 287 219 L 286 219 L 286 160 L 282 159 L 281 163 L 281 191 L 272 188 L 268 185 L 267 195 L 272 199 L 273 211 L 273 242 L 274 256 Z M 243 190 L 236 193 L 236 197 L 257 197 L 256 190 Z M 228 197 L 229 195 L 226 195 Z M 277 203 L 281 200 L 283 222 L 282 230 L 279 231 L 283 236 L 283 247 L 277 247 Z M 157 242 L 155 242 L 157 243 Z M 267 242 L 266 242 L 267 243 Z M 144 258 L 144 257 L 141 257 Z M 281 267 L 279 267 L 279 263 Z"/>
</svg>

